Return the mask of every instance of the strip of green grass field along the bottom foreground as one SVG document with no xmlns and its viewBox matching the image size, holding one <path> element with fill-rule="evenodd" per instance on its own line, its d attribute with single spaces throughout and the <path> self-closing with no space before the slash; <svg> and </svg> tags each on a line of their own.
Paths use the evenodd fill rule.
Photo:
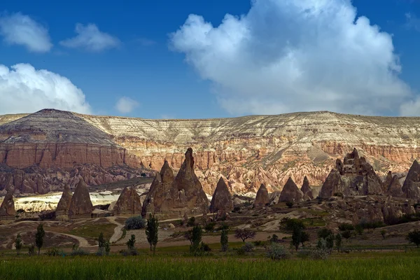
<svg viewBox="0 0 420 280">
<path fill-rule="evenodd" d="M 420 254 L 353 255 L 329 260 L 268 258 L 46 257 L 0 258 L 0 279 L 418 279 Z"/>
</svg>

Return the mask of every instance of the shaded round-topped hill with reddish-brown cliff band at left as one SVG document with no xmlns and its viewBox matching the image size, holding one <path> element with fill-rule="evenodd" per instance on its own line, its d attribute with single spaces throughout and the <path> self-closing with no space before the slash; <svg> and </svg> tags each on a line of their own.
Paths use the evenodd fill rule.
<svg viewBox="0 0 420 280">
<path fill-rule="evenodd" d="M 0 191 L 13 185 L 45 194 L 79 175 L 91 185 L 130 179 L 137 172 L 127 160 L 139 166 L 111 135 L 71 112 L 45 109 L 0 126 Z"/>
</svg>

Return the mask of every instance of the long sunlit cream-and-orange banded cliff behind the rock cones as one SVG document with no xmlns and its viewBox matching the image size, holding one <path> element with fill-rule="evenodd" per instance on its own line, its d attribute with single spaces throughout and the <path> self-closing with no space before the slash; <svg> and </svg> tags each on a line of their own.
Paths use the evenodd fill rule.
<svg viewBox="0 0 420 280">
<path fill-rule="evenodd" d="M 105 162 L 123 161 L 158 171 L 167 160 L 176 172 L 184 160 L 184 151 L 192 147 L 195 173 L 209 195 L 214 193 L 221 175 L 228 179 L 232 193 L 256 192 L 261 183 L 270 192 L 281 190 L 289 176 L 299 186 L 304 176 L 311 185 L 321 186 L 335 167 L 335 160 L 354 147 L 379 175 L 388 170 L 407 172 L 413 160 L 420 158 L 420 118 L 352 116 L 327 111 L 209 120 L 73 116 L 105 132 L 125 149 L 124 154 L 115 152 Z M 0 116 L 0 124 L 22 117 Z M 15 154 L 19 155 L 22 149 Z M 55 155 L 52 153 L 52 158 Z M 39 165 L 42 157 L 31 152 L 31 158 Z M 46 158 L 49 157 L 47 153 Z M 13 165 L 13 160 L 10 162 Z"/>
</svg>

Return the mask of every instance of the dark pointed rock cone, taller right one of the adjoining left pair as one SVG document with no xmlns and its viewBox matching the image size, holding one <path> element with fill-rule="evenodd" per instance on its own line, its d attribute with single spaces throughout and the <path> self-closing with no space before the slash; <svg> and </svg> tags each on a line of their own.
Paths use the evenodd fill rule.
<svg viewBox="0 0 420 280">
<path fill-rule="evenodd" d="M 80 179 L 74 190 L 69 207 L 69 217 L 90 217 L 92 214 L 93 205 L 90 200 L 89 190 L 87 189 L 85 181 Z"/>
</svg>

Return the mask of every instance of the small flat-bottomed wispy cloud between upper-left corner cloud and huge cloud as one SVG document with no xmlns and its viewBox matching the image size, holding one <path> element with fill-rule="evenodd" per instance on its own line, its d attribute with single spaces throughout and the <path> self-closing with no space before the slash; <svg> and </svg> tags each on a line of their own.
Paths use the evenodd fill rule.
<svg viewBox="0 0 420 280">
<path fill-rule="evenodd" d="M 78 34 L 76 37 L 60 41 L 59 43 L 67 48 L 85 48 L 92 52 L 118 48 L 118 45 L 120 45 L 120 40 L 117 37 L 100 31 L 92 23 L 87 25 L 78 23 L 75 31 Z"/>
</svg>

